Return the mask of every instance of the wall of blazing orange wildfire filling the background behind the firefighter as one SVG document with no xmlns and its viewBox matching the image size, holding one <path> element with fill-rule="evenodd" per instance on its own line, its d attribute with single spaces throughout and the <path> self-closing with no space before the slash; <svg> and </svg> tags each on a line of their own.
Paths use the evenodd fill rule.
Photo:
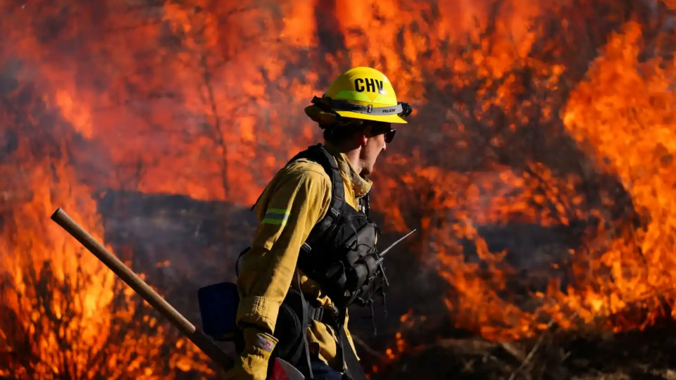
<svg viewBox="0 0 676 380">
<path fill-rule="evenodd" d="M 213 376 L 49 215 L 66 208 L 103 240 L 101 191 L 175 194 L 223 215 L 210 234 L 241 236 L 225 215 L 318 141 L 302 109 L 356 65 L 386 72 L 416 108 L 377 168 L 373 206 L 387 232 L 420 229 L 391 264 L 420 281 L 389 293 L 403 317 L 368 342 L 382 353 L 363 355 L 373 376 L 457 331 L 501 345 L 673 319 L 675 12 L 656 0 L 4 1 L 0 376 Z M 180 272 L 181 255 L 140 270 Z M 202 256 L 223 267 L 214 281 L 231 275 L 230 251 Z"/>
</svg>

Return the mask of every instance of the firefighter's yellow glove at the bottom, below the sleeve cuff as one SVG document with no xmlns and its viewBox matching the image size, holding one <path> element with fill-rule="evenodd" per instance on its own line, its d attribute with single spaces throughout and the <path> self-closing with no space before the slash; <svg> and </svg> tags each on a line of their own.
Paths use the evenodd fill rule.
<svg viewBox="0 0 676 380">
<path fill-rule="evenodd" d="M 279 342 L 274 336 L 255 327 L 244 329 L 244 351 L 225 372 L 225 380 L 265 380 L 268 360 Z"/>
</svg>

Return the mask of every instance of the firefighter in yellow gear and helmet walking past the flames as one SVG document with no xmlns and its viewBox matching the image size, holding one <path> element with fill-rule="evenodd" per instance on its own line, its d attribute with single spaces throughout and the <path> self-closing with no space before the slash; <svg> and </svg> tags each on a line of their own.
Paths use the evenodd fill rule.
<svg viewBox="0 0 676 380">
<path fill-rule="evenodd" d="M 411 106 L 397 101 L 382 72 L 358 67 L 337 77 L 305 112 L 323 129 L 325 143 L 289 161 L 254 205 L 258 228 L 238 260 L 239 360 L 227 379 L 265 380 L 275 356 L 308 378 L 365 379 L 346 328 L 347 305 L 357 297 L 345 298 L 342 288 L 332 293 L 337 285 L 315 269 L 341 254 L 332 253 L 342 239 L 339 229 L 367 231 L 352 246 L 366 246 L 358 258 L 373 252 L 377 226 L 364 217 L 372 185 L 367 175 L 394 138 L 392 124 L 406 123 Z M 377 270 L 369 268 L 371 281 Z M 357 281 L 365 288 L 366 280 Z M 357 288 L 349 294 L 364 294 Z"/>
</svg>

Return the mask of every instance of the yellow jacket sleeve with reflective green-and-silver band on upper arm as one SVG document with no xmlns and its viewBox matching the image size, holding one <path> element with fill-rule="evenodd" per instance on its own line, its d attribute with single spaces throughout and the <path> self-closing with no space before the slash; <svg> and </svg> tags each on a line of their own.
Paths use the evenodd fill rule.
<svg viewBox="0 0 676 380">
<path fill-rule="evenodd" d="M 331 187 L 323 173 L 298 170 L 285 172 L 266 191 L 265 204 L 256 205 L 258 228 L 251 250 L 240 260 L 237 323 L 272 334 L 301 246 L 327 213 Z"/>
</svg>

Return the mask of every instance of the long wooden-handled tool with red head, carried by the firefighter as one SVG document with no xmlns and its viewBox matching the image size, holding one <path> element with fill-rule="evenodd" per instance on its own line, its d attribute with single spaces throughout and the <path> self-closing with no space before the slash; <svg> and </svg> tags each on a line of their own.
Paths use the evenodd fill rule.
<svg viewBox="0 0 676 380">
<path fill-rule="evenodd" d="M 174 327 L 179 329 L 192 343 L 202 350 L 208 357 L 211 358 L 218 365 L 227 370 L 232 368 L 234 361 L 228 357 L 223 350 L 221 350 L 204 332 L 197 329 L 194 324 L 190 323 L 183 315 L 178 312 L 172 305 L 170 305 L 164 298 L 162 298 L 156 291 L 154 291 L 145 281 L 132 272 L 123 262 L 108 251 L 103 244 L 99 243 L 85 231 L 80 224 L 77 224 L 73 218 L 65 213 L 64 210 L 58 208 L 54 214 L 51 215 L 51 220 L 54 220 L 59 226 L 65 229 L 77 241 L 82 243 L 84 248 L 99 258 L 106 267 L 110 268 L 115 274 L 120 277 L 127 285 L 129 285 L 139 296 L 142 296 L 155 310 L 160 312 Z M 273 369 L 273 376 L 271 380 L 303 380 L 304 376 L 289 363 L 277 359 Z"/>
</svg>

